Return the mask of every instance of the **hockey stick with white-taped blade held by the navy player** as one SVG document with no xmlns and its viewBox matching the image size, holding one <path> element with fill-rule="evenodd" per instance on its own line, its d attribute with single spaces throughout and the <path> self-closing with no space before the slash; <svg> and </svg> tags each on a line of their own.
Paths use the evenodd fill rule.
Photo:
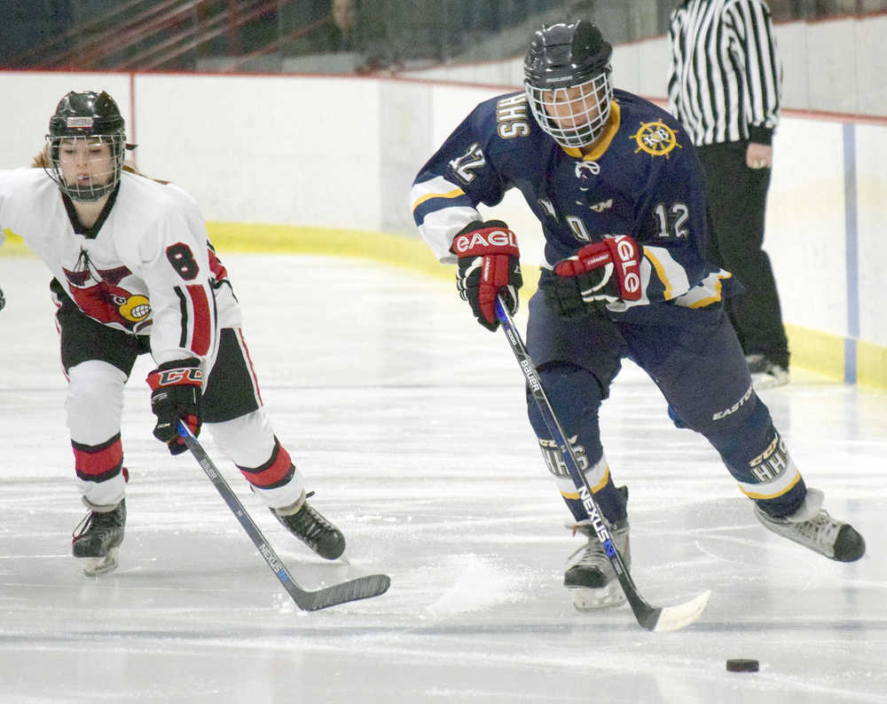
<svg viewBox="0 0 887 704">
<path fill-rule="evenodd" d="M 622 555 L 619 554 L 619 550 L 616 550 L 616 544 L 609 534 L 607 520 L 603 517 L 598 503 L 594 501 L 592 488 L 588 486 L 585 474 L 579 470 L 579 463 L 573 448 L 569 444 L 566 433 L 561 428 L 560 421 L 554 415 L 552 405 L 539 381 L 536 366 L 533 364 L 533 360 L 530 359 L 530 354 L 523 344 L 520 333 L 514 327 L 514 320 L 508 313 L 502 294 L 499 294 L 496 299 L 496 316 L 499 322 L 502 323 L 502 329 L 505 330 L 508 344 L 511 345 L 511 351 L 514 352 L 514 357 L 517 358 L 517 362 L 521 366 L 523 376 L 530 387 L 530 393 L 536 402 L 539 413 L 545 420 L 548 431 L 552 434 L 558 449 L 561 451 L 561 455 L 563 455 L 564 463 L 567 464 L 567 469 L 569 470 L 569 476 L 573 479 L 573 484 L 576 486 L 582 505 L 588 513 L 588 518 L 592 521 L 594 533 L 597 535 L 604 552 L 607 553 L 610 565 L 616 571 L 616 577 L 619 579 L 619 584 L 622 585 L 628 603 L 632 605 L 634 617 L 643 628 L 657 632 L 679 630 L 689 626 L 702 615 L 705 606 L 709 603 L 711 592 L 703 592 L 703 594 L 690 599 L 684 604 L 664 607 L 651 606 L 640 596 L 638 588 L 632 580 L 632 575 L 628 572 Z"/>
</svg>

